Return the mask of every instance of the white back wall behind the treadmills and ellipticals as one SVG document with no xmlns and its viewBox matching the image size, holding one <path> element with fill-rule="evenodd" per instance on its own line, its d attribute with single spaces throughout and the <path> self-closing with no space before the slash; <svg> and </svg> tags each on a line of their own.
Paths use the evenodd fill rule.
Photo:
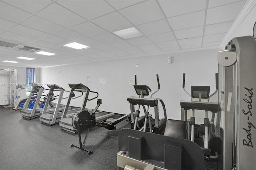
<svg viewBox="0 0 256 170">
<path fill-rule="evenodd" d="M 152 91 L 155 91 L 156 74 L 158 74 L 161 88 L 154 97 L 164 101 L 168 119 L 179 120 L 180 100 L 190 100 L 182 90 L 182 74 L 186 73 L 188 91 L 191 85 L 210 85 L 213 88 L 211 92 L 214 91 L 215 73 L 218 72 L 217 51 L 218 49 L 193 51 L 42 68 L 41 83 L 55 83 L 69 90 L 68 83 L 85 85 L 86 77 L 90 76 L 89 88 L 97 91 L 98 98 L 102 99 L 99 110 L 127 114 L 130 112 L 127 97 L 136 96 L 133 86 L 129 85 L 129 78 L 137 75 L 137 84 L 148 85 Z M 172 56 L 171 64 L 168 64 L 168 56 Z M 105 78 L 106 85 L 98 85 L 99 78 Z M 64 95 L 67 96 L 68 93 Z M 65 104 L 66 100 L 62 103 Z M 80 106 L 81 103 L 82 99 L 76 99 L 71 105 Z M 95 106 L 96 100 L 87 104 L 87 108 Z M 160 117 L 163 117 L 162 109 L 160 109 Z"/>
</svg>

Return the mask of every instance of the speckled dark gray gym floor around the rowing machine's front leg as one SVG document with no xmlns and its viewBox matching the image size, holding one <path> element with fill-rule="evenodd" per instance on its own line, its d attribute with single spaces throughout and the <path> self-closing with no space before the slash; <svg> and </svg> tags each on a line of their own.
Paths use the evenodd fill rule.
<svg viewBox="0 0 256 170">
<path fill-rule="evenodd" d="M 89 155 L 70 147 L 79 146 L 77 134 L 0 107 L 0 170 L 117 170 L 118 134 L 129 127 L 130 122 L 122 121 L 116 130 L 90 128 L 85 148 L 94 153 Z M 222 170 L 222 158 L 205 162 L 204 169 Z"/>
</svg>

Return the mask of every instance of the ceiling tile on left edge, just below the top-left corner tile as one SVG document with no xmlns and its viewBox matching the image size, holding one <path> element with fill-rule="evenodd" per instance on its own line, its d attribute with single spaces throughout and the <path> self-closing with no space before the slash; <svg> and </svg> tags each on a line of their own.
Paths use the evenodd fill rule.
<svg viewBox="0 0 256 170">
<path fill-rule="evenodd" d="M 0 16 L 5 20 L 20 23 L 31 14 L 0 1 Z"/>
</svg>

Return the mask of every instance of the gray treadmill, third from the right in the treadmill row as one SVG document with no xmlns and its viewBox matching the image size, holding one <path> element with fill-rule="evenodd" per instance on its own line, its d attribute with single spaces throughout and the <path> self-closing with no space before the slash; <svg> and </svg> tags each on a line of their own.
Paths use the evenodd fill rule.
<svg viewBox="0 0 256 170">
<path fill-rule="evenodd" d="M 20 113 L 22 114 L 22 118 L 27 118 L 31 120 L 36 117 L 39 117 L 40 115 L 42 115 L 44 109 L 46 109 L 46 113 L 54 113 L 56 109 L 56 104 L 53 102 L 50 102 L 50 100 L 56 96 L 52 96 L 51 94 L 52 91 L 50 91 L 50 89 L 45 89 L 44 87 L 36 83 L 30 83 L 30 84 L 32 85 L 32 90 L 30 92 L 28 99 L 26 100 L 26 103 L 24 104 L 24 109 L 20 111 Z M 49 93 L 47 94 L 48 101 L 46 98 L 47 102 L 42 103 L 42 105 L 38 107 L 37 103 L 40 102 L 40 97 L 42 96 L 42 93 L 44 93 L 44 90 L 49 90 Z M 36 98 L 35 104 L 32 107 L 32 109 L 29 109 L 28 108 L 29 101 L 31 100 L 32 95 L 36 92 L 38 92 L 38 97 Z M 65 105 L 59 105 L 58 111 L 64 111 L 64 107 Z"/>
</svg>

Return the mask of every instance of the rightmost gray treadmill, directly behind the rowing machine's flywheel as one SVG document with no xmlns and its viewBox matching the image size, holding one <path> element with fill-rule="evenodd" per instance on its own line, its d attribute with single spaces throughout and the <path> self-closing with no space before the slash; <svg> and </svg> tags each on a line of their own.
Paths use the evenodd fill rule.
<svg viewBox="0 0 256 170">
<path fill-rule="evenodd" d="M 59 122 L 59 125 L 60 125 L 62 130 L 66 130 L 66 131 L 69 131 L 69 132 L 72 132 L 72 133 L 76 134 L 77 129 L 74 128 L 73 125 L 72 125 L 72 118 L 73 118 L 74 114 L 76 113 L 76 111 L 68 114 L 68 106 L 70 104 L 71 99 L 78 98 L 78 97 L 75 97 L 74 91 L 80 91 L 80 92 L 84 93 L 84 100 L 82 102 L 82 107 L 80 108 L 80 110 L 86 110 L 89 113 L 92 113 L 92 109 L 86 109 L 85 108 L 87 101 L 91 101 L 93 99 L 96 99 L 99 94 L 98 94 L 98 92 L 91 91 L 88 87 L 86 87 L 82 83 L 70 83 L 68 85 L 70 87 L 70 95 L 68 97 L 68 102 L 67 102 L 66 107 L 64 109 L 64 113 L 62 115 L 62 119 Z M 92 99 L 88 99 L 88 96 L 89 96 L 90 92 L 91 93 L 96 93 L 97 96 L 93 97 Z M 102 121 L 102 120 L 106 120 L 108 118 L 114 117 L 114 113 L 98 111 L 98 112 L 95 113 L 95 117 L 96 117 L 97 121 Z"/>
</svg>

